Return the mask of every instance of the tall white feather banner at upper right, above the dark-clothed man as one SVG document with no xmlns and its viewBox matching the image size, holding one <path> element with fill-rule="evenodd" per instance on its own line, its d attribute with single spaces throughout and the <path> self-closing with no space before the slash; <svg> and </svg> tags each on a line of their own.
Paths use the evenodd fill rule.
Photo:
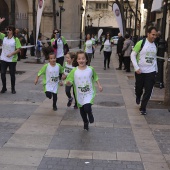
<svg viewBox="0 0 170 170">
<path fill-rule="evenodd" d="M 117 3 L 113 4 L 113 13 L 115 15 L 118 27 L 119 27 L 119 31 L 123 36 L 123 23 L 122 23 L 122 15 L 119 9 L 119 6 L 117 5 Z"/>
</svg>

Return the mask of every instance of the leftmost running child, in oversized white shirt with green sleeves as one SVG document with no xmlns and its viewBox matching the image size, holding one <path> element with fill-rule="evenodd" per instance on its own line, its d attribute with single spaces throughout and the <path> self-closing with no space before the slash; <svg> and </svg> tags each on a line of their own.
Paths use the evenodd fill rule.
<svg viewBox="0 0 170 170">
<path fill-rule="evenodd" d="M 35 79 L 35 85 L 38 79 L 43 75 L 43 87 L 46 96 L 51 99 L 53 97 L 53 110 L 57 110 L 57 92 L 59 83 L 59 73 L 63 73 L 63 67 L 56 63 L 56 56 L 54 53 L 48 55 L 49 63 L 45 64 Z"/>
</svg>

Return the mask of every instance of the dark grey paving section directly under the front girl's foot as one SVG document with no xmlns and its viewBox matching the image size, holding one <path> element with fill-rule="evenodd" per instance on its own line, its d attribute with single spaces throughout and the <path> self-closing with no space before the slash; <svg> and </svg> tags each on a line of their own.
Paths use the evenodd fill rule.
<svg viewBox="0 0 170 170">
<path fill-rule="evenodd" d="M 86 132 L 82 127 L 74 126 L 60 126 L 49 149 L 138 151 L 131 129 L 90 127 L 89 132 Z"/>
</svg>

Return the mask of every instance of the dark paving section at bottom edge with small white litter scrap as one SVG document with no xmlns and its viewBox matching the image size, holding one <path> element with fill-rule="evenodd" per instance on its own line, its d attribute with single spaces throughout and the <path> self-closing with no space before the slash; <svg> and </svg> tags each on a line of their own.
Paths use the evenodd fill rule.
<svg viewBox="0 0 170 170">
<path fill-rule="evenodd" d="M 43 158 L 38 170 L 144 170 L 141 162 Z"/>
</svg>

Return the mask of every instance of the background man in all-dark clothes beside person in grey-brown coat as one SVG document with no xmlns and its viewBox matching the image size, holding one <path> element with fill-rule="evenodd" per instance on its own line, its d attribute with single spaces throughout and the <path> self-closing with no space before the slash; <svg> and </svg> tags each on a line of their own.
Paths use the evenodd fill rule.
<svg viewBox="0 0 170 170">
<path fill-rule="evenodd" d="M 116 68 L 116 70 L 122 70 L 122 63 L 123 63 L 123 54 L 122 54 L 122 48 L 124 43 L 124 38 L 122 37 L 122 34 L 118 34 L 118 42 L 117 42 L 117 54 L 119 56 L 119 67 Z"/>
</svg>

